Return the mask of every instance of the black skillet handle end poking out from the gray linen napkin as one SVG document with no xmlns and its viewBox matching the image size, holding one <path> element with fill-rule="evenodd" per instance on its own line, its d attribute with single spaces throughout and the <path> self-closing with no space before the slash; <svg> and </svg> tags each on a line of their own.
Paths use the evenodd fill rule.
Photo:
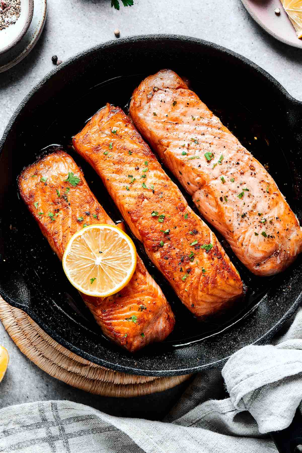
<svg viewBox="0 0 302 453">
<path fill-rule="evenodd" d="M 296 453 L 297 445 L 302 445 L 302 415 L 299 408 L 288 428 L 270 433 L 279 453 Z"/>
</svg>

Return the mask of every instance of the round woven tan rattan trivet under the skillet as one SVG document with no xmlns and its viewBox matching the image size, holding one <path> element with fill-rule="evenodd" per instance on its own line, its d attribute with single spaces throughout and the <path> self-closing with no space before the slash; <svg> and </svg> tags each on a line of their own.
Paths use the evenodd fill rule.
<svg viewBox="0 0 302 453">
<path fill-rule="evenodd" d="M 0 319 L 10 337 L 31 361 L 60 381 L 103 396 L 148 395 L 177 386 L 191 375 L 148 377 L 111 371 L 59 345 L 19 308 L 0 298 Z"/>
</svg>

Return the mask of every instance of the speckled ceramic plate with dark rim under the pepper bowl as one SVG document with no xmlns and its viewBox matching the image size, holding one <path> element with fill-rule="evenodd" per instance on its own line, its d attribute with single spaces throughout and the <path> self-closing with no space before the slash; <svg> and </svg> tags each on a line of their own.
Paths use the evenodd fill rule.
<svg viewBox="0 0 302 453">
<path fill-rule="evenodd" d="M 33 19 L 31 20 L 27 32 L 13 48 L 0 54 L 0 72 L 7 71 L 10 67 L 20 63 L 20 61 L 22 61 L 34 48 L 44 28 L 46 12 L 47 0 L 34 0 Z"/>
</svg>

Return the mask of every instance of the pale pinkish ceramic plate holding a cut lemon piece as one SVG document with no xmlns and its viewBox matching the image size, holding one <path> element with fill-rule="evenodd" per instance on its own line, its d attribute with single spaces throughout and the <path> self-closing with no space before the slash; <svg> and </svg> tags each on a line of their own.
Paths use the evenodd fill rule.
<svg viewBox="0 0 302 453">
<path fill-rule="evenodd" d="M 302 39 L 298 39 L 280 0 L 241 0 L 241 2 L 267 33 L 282 43 L 302 49 Z M 275 8 L 280 8 L 279 15 L 275 14 Z"/>
</svg>

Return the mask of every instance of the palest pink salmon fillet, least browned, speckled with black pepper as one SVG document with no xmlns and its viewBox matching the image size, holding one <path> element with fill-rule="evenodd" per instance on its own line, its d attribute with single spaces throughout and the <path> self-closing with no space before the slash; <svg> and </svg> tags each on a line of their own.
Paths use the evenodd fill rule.
<svg viewBox="0 0 302 453">
<path fill-rule="evenodd" d="M 301 227 L 273 178 L 175 72 L 144 79 L 130 115 L 250 271 L 277 274 L 302 251 Z"/>
</svg>

